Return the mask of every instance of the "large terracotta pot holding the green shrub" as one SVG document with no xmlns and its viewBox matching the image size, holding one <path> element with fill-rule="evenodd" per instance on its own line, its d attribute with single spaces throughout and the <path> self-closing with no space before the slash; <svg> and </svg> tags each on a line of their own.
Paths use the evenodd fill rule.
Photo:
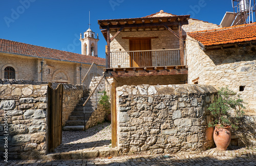
<svg viewBox="0 0 256 166">
<path fill-rule="evenodd" d="M 230 126 L 221 127 L 215 126 L 214 130 L 214 142 L 218 150 L 225 151 L 231 140 Z"/>
</svg>

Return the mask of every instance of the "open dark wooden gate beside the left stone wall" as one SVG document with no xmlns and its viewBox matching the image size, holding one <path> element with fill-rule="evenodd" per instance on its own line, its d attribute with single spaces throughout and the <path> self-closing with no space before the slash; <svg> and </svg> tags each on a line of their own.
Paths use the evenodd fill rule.
<svg viewBox="0 0 256 166">
<path fill-rule="evenodd" d="M 48 152 L 53 152 L 62 142 L 63 84 L 56 89 L 48 84 Z"/>
</svg>

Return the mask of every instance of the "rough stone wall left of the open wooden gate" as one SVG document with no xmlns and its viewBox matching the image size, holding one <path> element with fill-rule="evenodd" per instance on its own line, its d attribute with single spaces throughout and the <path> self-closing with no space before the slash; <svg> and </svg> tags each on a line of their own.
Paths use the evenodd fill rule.
<svg viewBox="0 0 256 166">
<path fill-rule="evenodd" d="M 0 79 L 2 159 L 41 158 L 47 153 L 48 84 L 38 84 Z"/>
</svg>

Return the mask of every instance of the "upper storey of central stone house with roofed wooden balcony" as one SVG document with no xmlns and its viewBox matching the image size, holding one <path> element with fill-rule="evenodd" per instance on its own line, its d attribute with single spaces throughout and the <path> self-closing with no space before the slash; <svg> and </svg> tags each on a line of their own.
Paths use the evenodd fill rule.
<svg viewBox="0 0 256 166">
<path fill-rule="evenodd" d="M 219 28 L 189 15 L 162 10 L 145 17 L 98 20 L 98 23 L 108 43 L 105 72 L 118 85 L 187 82 L 186 32 Z"/>
</svg>

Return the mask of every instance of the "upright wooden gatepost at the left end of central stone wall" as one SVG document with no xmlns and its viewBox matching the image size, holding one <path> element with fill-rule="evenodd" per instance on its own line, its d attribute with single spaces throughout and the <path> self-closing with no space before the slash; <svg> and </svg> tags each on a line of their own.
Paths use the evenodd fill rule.
<svg viewBox="0 0 256 166">
<path fill-rule="evenodd" d="M 116 118 L 116 87 L 115 82 L 111 84 L 111 130 L 112 148 L 117 146 L 117 118 Z"/>
</svg>

